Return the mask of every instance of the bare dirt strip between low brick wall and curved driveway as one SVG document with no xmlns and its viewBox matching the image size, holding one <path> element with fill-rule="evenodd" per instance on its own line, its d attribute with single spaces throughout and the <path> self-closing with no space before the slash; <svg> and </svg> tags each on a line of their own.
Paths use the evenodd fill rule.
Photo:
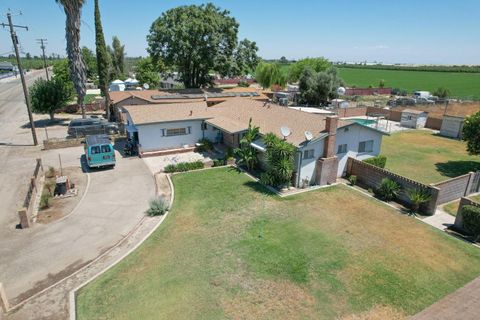
<svg viewBox="0 0 480 320">
<path fill-rule="evenodd" d="M 82 172 L 82 168 L 64 168 L 63 174 L 68 176 L 70 181 L 75 184 L 75 188 L 78 190 L 77 195 L 68 198 L 53 198 L 49 208 L 38 211 L 38 223 L 47 224 L 68 215 L 76 207 L 85 193 L 87 175 Z"/>
</svg>

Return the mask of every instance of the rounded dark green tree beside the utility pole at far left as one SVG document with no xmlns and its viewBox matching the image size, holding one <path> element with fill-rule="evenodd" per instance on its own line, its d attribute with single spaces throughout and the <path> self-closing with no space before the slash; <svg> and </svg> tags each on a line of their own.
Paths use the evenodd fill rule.
<svg viewBox="0 0 480 320">
<path fill-rule="evenodd" d="M 60 77 L 51 80 L 37 79 L 29 88 L 32 110 L 50 115 L 54 119 L 55 112 L 64 107 L 72 98 L 72 91 Z"/>
</svg>

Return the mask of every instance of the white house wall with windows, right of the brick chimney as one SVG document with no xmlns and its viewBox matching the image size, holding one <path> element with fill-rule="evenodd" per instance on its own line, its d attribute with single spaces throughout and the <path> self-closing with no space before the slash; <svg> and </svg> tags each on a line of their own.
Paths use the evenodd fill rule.
<svg viewBox="0 0 480 320">
<path fill-rule="evenodd" d="M 346 131 L 346 129 L 348 130 Z M 348 157 L 356 158 L 358 160 L 364 160 L 379 155 L 380 148 L 382 146 L 382 136 L 383 135 L 380 132 L 365 128 L 362 125 L 358 124 L 338 129 L 337 139 L 335 143 L 335 153 L 338 150 L 338 146 L 341 144 L 347 144 L 347 152 L 337 154 L 337 175 L 341 177 L 346 171 Z M 359 143 L 367 140 L 373 140 L 373 151 L 358 153 Z"/>
</svg>

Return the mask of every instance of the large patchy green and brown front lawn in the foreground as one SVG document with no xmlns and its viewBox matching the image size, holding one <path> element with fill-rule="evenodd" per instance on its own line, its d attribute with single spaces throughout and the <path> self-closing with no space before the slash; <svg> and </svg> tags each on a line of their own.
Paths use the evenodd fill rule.
<svg viewBox="0 0 480 320">
<path fill-rule="evenodd" d="M 477 248 L 349 187 L 281 199 L 224 168 L 173 182 L 171 215 L 80 290 L 78 319 L 391 319 L 480 274 Z"/>
</svg>

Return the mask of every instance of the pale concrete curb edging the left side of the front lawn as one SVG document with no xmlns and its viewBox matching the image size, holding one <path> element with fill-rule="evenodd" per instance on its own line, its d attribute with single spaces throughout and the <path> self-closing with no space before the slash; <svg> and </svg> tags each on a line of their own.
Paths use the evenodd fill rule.
<svg viewBox="0 0 480 320">
<path fill-rule="evenodd" d="M 168 184 L 170 185 L 170 190 L 171 190 L 171 196 L 170 196 L 170 208 L 169 210 L 160 218 L 160 221 L 152 228 L 152 230 L 150 230 L 133 248 L 131 248 L 130 250 L 128 250 L 126 253 L 124 253 L 122 256 L 120 256 L 120 258 L 116 259 L 113 263 L 111 263 L 107 268 L 105 268 L 104 270 L 102 270 L 100 273 L 97 273 L 96 275 L 94 275 L 93 277 L 91 277 L 90 279 L 86 280 L 85 282 L 83 282 L 82 284 L 80 284 L 79 286 L 75 287 L 74 289 L 70 290 L 69 292 L 69 297 L 68 297 L 68 300 L 69 300 L 69 319 L 70 320 L 75 320 L 77 318 L 77 311 L 76 311 L 76 304 L 75 304 L 75 296 L 76 296 L 76 293 L 78 290 L 80 290 L 81 288 L 83 288 L 84 286 L 86 286 L 87 284 L 89 284 L 90 282 L 92 282 L 93 280 L 95 280 L 96 278 L 100 277 L 102 274 L 104 274 L 105 272 L 107 272 L 108 270 L 110 270 L 111 268 L 113 268 L 114 266 L 116 266 L 120 261 L 122 261 L 125 257 L 127 257 L 130 253 L 132 253 L 133 251 L 135 251 L 138 247 L 140 247 L 140 245 L 143 244 L 143 242 L 145 242 L 145 240 L 147 240 L 147 238 L 149 238 L 156 230 L 157 228 L 162 224 L 162 222 L 167 218 L 168 214 L 170 213 L 171 211 L 171 208 L 172 208 L 172 205 L 173 205 L 173 200 L 175 198 L 175 191 L 174 191 L 174 188 L 173 188 L 173 183 L 172 183 L 172 180 L 170 179 L 170 176 L 168 174 L 165 174 L 165 176 L 167 177 L 167 180 L 168 180 Z M 145 220 L 142 219 L 141 222 L 143 222 Z M 127 237 L 124 238 L 124 240 L 126 240 Z M 122 241 L 123 242 L 123 241 Z M 120 245 L 120 243 L 118 243 L 115 247 L 112 247 L 112 249 L 116 248 L 118 245 Z M 109 250 L 110 251 L 110 250 Z M 108 252 L 109 252 L 108 251 Z M 94 263 L 95 261 L 97 261 L 98 259 L 100 259 L 101 257 L 105 256 L 106 254 L 108 254 L 108 252 L 104 253 L 103 255 L 99 256 L 96 260 L 92 261 L 90 264 Z M 89 264 L 89 265 L 90 265 Z M 88 266 L 88 265 L 87 265 Z M 85 267 L 87 267 L 85 266 Z M 85 268 L 84 267 L 84 268 Z M 83 270 L 80 269 L 80 270 Z M 78 270 L 78 271 L 80 271 Z M 73 274 L 72 274 L 73 275 Z"/>
</svg>

